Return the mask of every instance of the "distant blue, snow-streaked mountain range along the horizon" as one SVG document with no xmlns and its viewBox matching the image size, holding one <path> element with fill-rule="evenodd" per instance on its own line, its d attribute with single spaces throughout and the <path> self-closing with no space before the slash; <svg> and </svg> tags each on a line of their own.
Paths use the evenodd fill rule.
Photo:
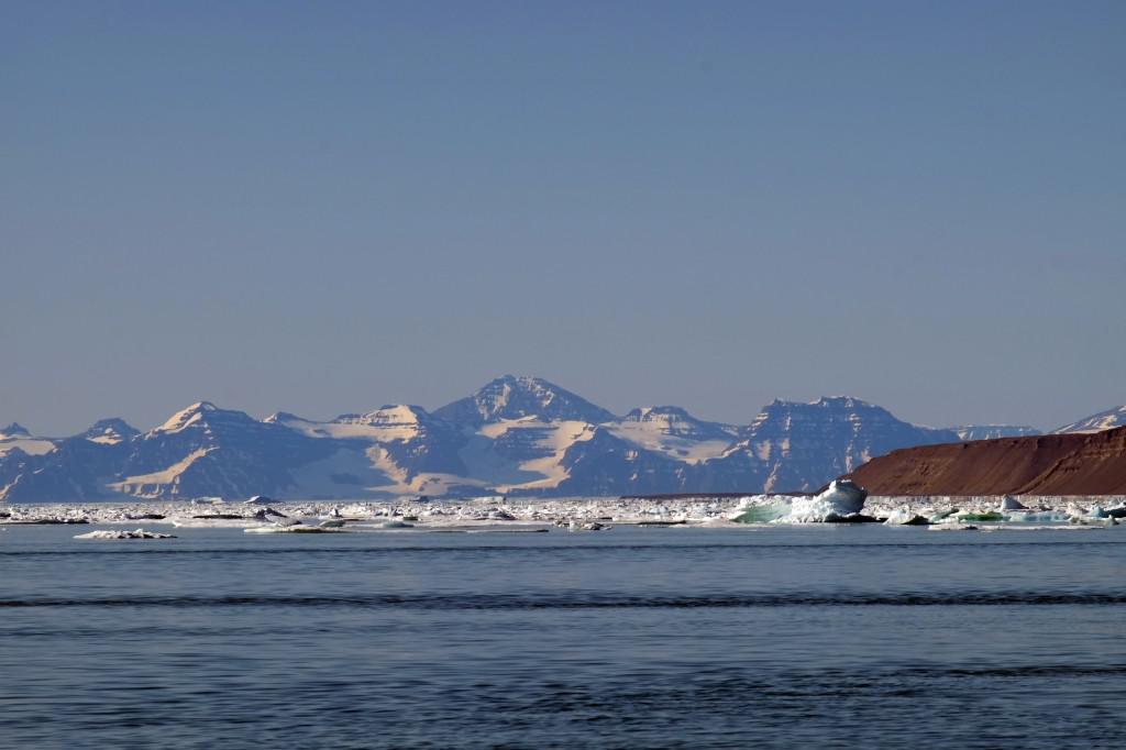
<svg viewBox="0 0 1126 750">
<path fill-rule="evenodd" d="M 1126 420 L 1126 409 L 1114 413 Z M 1090 431 L 1107 414 L 1064 429 Z M 775 401 L 749 425 L 673 405 L 618 417 L 545 380 L 506 375 L 434 411 L 259 420 L 204 401 L 146 432 L 105 419 L 45 438 L 14 423 L 0 428 L 0 500 L 803 491 L 896 448 L 1035 434 L 919 427 L 848 396 Z"/>
</svg>

